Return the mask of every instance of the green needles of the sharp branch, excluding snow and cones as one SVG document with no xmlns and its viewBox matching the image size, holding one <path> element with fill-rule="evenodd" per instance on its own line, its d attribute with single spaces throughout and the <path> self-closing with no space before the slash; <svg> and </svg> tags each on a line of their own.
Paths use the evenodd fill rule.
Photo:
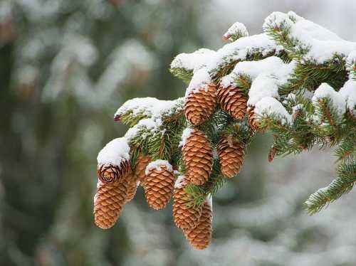
<svg viewBox="0 0 356 266">
<path fill-rule="evenodd" d="M 345 55 L 337 53 L 323 63 L 318 63 L 313 58 L 305 59 L 305 55 L 310 51 L 310 46 L 306 46 L 290 34 L 290 26 L 295 23 L 296 17 L 291 13 L 288 16 L 289 19 L 278 21 L 278 23 L 271 18 L 264 28 L 265 33 L 282 48 L 278 47 L 278 49 L 266 52 L 259 46 L 241 50 L 239 50 L 240 48 L 228 49 L 228 53 L 216 63 L 214 68 L 208 71 L 211 80 L 219 85 L 221 78 L 231 74 L 231 71 L 241 60 L 258 61 L 278 56 L 284 63 L 295 62 L 293 73 L 288 75 L 288 80 L 283 80 L 283 83 L 280 80 L 281 83 L 278 83 L 276 99 L 286 112 L 283 112 L 283 115 L 276 112 L 258 114 L 256 119 L 260 124 L 260 131 L 273 134 L 273 156 L 299 154 L 313 147 L 320 149 L 336 147 L 335 156 L 339 163 L 337 178 L 328 187 L 313 193 L 305 203 L 308 213 L 313 214 L 328 203 L 340 198 L 342 194 L 349 192 L 353 187 L 356 179 L 356 119 L 352 116 L 352 112 L 346 111 L 346 102 L 346 112 L 340 112 L 338 110 L 340 106 L 335 106 L 333 99 L 323 97 L 312 101 L 308 93 L 317 90 L 322 83 L 328 83 L 335 88 L 336 93 L 348 78 L 355 78 L 356 63 L 347 63 Z M 232 38 L 237 39 L 238 37 L 233 36 Z M 172 68 L 171 72 L 186 83 L 194 74 L 192 70 L 184 68 Z M 234 85 L 244 91 L 247 97 L 253 82 L 251 77 L 244 73 L 231 76 Z M 143 152 L 148 152 L 152 159 L 171 161 L 174 165 L 179 166 L 181 174 L 187 174 L 182 160 L 182 151 L 179 148 L 179 140 L 185 127 L 195 127 L 205 132 L 215 151 L 219 139 L 224 135 L 232 135 L 246 147 L 253 141 L 256 132 L 249 127 L 247 116 L 241 121 L 235 121 L 217 106 L 209 119 L 198 126 L 193 126 L 185 122 L 182 115 L 183 100 L 179 106 L 176 111 L 169 112 L 169 115 L 162 115 L 164 122 L 157 131 L 145 132 L 142 129 L 143 131 L 138 134 L 138 139 L 132 139 L 132 146 L 136 149 L 147 147 L 147 150 Z M 143 117 L 142 114 L 135 117 L 128 112 L 122 117 L 122 121 L 133 125 Z M 221 175 L 219 169 L 219 158 L 214 158 L 213 171 L 209 180 L 201 186 L 188 184 L 186 189 L 189 194 L 189 205 L 197 206 L 204 203 L 206 197 L 214 195 L 225 181 L 226 179 Z"/>
</svg>

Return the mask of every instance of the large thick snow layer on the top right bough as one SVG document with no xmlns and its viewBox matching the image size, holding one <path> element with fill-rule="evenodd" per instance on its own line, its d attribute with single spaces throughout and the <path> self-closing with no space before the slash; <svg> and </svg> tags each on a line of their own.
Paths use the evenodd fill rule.
<svg viewBox="0 0 356 266">
<path fill-rule="evenodd" d="M 290 37 L 297 40 L 299 46 L 308 49 L 303 60 L 325 63 L 335 54 L 347 56 L 356 50 L 356 43 L 345 41 L 332 31 L 293 12 L 273 12 L 266 18 L 263 29 L 266 31 L 271 26 L 289 28 Z"/>
</svg>

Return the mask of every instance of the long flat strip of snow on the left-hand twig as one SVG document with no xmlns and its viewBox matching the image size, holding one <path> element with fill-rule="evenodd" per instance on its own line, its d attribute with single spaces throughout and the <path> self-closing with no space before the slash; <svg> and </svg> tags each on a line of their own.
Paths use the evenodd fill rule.
<svg viewBox="0 0 356 266">
<path fill-rule="evenodd" d="M 177 100 L 158 100 L 153 97 L 134 98 L 125 102 L 116 112 L 115 116 L 132 112 L 132 115 L 145 115 L 147 117 L 162 117 L 169 115 L 174 109 L 182 108 L 182 98 Z"/>
</svg>

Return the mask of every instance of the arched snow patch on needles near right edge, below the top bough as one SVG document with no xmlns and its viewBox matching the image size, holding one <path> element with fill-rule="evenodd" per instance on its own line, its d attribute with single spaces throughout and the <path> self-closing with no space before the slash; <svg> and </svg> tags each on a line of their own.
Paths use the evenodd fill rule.
<svg viewBox="0 0 356 266">
<path fill-rule="evenodd" d="M 355 91 L 355 87 L 350 85 L 352 87 L 351 90 Z M 348 93 L 350 92 L 350 89 L 348 88 L 348 85 L 342 90 L 342 92 L 337 92 L 328 85 L 328 83 L 322 83 L 318 89 L 315 90 L 314 96 L 312 98 L 313 100 L 313 105 L 318 105 L 318 102 L 320 99 L 323 98 L 330 98 L 330 100 L 333 103 L 333 107 L 335 107 L 337 114 L 338 115 L 343 115 L 345 113 L 345 107 L 346 107 L 346 99 Z M 352 100 L 351 100 L 352 102 Z"/>
</svg>

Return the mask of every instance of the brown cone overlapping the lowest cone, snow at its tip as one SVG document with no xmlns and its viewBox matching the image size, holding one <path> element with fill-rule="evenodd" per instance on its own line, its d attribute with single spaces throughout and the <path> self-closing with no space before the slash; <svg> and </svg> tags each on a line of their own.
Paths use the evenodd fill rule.
<svg viewBox="0 0 356 266">
<path fill-rule="evenodd" d="M 199 223 L 202 206 L 188 206 L 189 195 L 185 192 L 187 181 L 179 176 L 174 186 L 173 217 L 177 228 L 192 229 Z"/>
</svg>

